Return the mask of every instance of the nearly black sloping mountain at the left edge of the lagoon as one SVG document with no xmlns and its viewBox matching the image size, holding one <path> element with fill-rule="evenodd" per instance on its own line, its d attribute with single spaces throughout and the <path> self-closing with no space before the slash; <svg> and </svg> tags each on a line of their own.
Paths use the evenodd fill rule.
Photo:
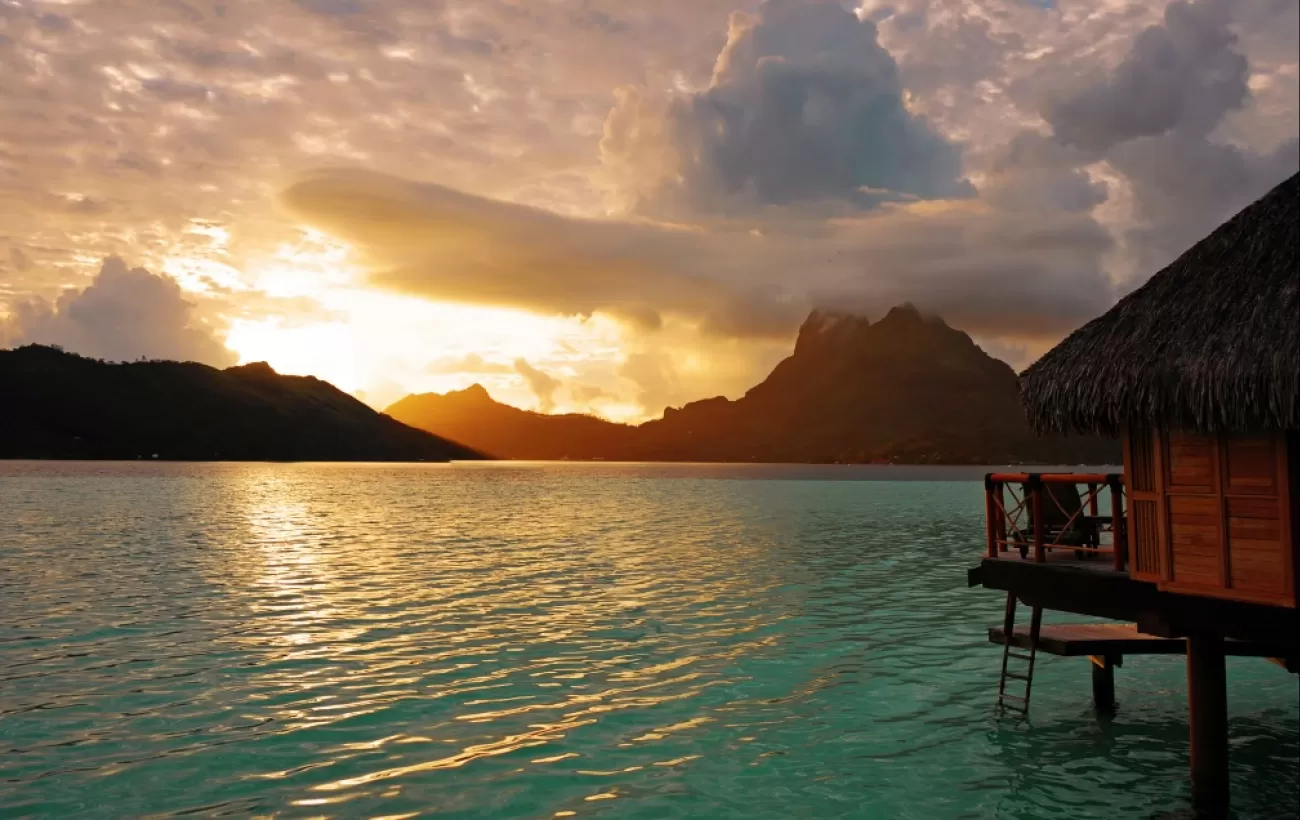
<svg viewBox="0 0 1300 820">
<path fill-rule="evenodd" d="M 266 364 L 108 364 L 0 351 L 0 457 L 447 461 L 481 457 Z"/>
</svg>

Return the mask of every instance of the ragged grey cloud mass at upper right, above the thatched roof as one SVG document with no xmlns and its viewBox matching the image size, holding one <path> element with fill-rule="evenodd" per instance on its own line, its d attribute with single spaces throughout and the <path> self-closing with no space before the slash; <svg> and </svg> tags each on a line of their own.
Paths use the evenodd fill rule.
<svg viewBox="0 0 1300 820">
<path fill-rule="evenodd" d="M 1104 161 L 1127 187 L 1131 214 L 1122 231 L 1130 286 L 1300 166 L 1294 136 L 1262 152 L 1214 139 L 1227 116 L 1252 99 L 1232 12 L 1226 0 L 1170 3 L 1109 75 L 1043 108 L 1061 147 L 1057 159 L 1065 157 L 1058 174 Z"/>
</svg>

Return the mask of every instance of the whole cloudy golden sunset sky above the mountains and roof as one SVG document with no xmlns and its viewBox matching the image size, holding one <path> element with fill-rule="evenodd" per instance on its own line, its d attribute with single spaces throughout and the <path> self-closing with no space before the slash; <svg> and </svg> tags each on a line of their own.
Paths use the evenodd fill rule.
<svg viewBox="0 0 1300 820">
<path fill-rule="evenodd" d="M 1028 365 L 1300 166 L 1295 0 L 0 0 L 0 347 L 638 421 Z"/>
</svg>

